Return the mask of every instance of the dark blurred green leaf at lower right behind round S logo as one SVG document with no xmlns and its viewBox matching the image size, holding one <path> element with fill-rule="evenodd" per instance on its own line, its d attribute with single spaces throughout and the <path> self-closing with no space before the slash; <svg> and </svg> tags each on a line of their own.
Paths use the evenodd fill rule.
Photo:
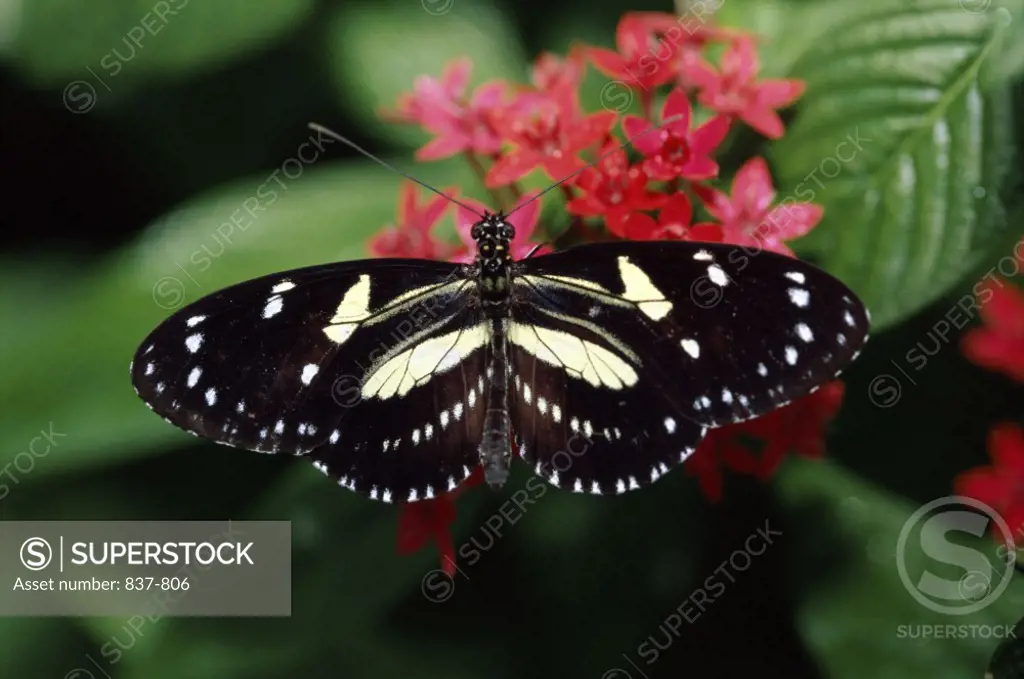
<svg viewBox="0 0 1024 679">
<path fill-rule="evenodd" d="M 958 561 L 943 563 L 930 557 L 935 550 L 922 549 L 921 532 L 912 526 L 900 553 L 901 531 L 918 507 L 829 462 L 791 460 L 776 482 L 790 519 L 782 540 L 795 547 L 792 589 L 800 597 L 797 625 L 824 676 L 981 676 L 999 642 L 991 631 L 1006 636 L 1024 605 L 1024 582 L 1013 578 L 1012 566 L 1005 570 L 1005 554 L 988 534 L 975 537 L 950 531 L 946 540 L 955 540 L 955 545 L 947 543 L 947 553 L 969 549 L 994 564 L 991 592 L 997 592 L 1004 575 L 1010 578 L 1009 585 L 974 612 L 937 612 L 914 599 L 910 587 L 925 571 L 952 582 L 968 574 L 955 565 Z M 906 564 L 908 585 L 897 565 L 900 558 Z M 970 626 L 987 626 L 988 633 L 980 627 L 972 632 Z M 947 637 L 922 638 L 925 630 Z M 955 636 L 949 638 L 951 633 Z"/>
</svg>

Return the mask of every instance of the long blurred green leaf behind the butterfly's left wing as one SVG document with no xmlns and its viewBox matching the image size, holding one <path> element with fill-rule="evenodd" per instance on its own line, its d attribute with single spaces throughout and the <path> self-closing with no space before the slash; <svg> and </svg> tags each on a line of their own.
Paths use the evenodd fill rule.
<svg viewBox="0 0 1024 679">
<path fill-rule="evenodd" d="M 226 285 L 367 257 L 367 238 L 394 217 L 399 179 L 376 164 L 289 172 L 295 178 L 280 174 L 280 184 L 258 176 L 198 197 L 74 286 L 33 294 L 44 303 L 27 307 L 0 295 L 0 327 L 17 329 L 0 342 L 0 469 L 51 422 L 65 436 L 19 481 L 195 440 L 132 391 L 128 364 L 145 335 L 173 309 Z M 416 174 L 439 186 L 472 184 L 458 160 Z M 20 461 L 30 467 L 28 457 Z"/>
</svg>

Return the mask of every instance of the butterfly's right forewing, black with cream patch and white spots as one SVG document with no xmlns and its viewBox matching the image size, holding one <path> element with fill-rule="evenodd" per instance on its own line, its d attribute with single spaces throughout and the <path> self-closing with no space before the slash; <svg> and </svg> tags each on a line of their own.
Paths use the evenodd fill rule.
<svg viewBox="0 0 1024 679">
<path fill-rule="evenodd" d="M 867 337 L 867 311 L 849 289 L 771 252 L 613 243 L 519 264 L 520 290 L 614 333 L 678 415 L 708 426 L 809 393 L 851 363 Z"/>
</svg>

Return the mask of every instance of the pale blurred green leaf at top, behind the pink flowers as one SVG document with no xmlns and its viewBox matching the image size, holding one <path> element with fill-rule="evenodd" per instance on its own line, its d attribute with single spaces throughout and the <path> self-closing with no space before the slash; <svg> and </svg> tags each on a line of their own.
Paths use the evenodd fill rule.
<svg viewBox="0 0 1024 679">
<path fill-rule="evenodd" d="M 413 3 L 415 5 L 415 3 Z M 339 99 L 367 130 L 409 145 L 430 135 L 381 120 L 419 76 L 439 78 L 444 65 L 471 56 L 474 85 L 496 79 L 526 82 L 526 56 L 513 22 L 482 2 L 423 0 L 424 7 L 344 4 L 330 30 L 331 66 Z"/>
</svg>

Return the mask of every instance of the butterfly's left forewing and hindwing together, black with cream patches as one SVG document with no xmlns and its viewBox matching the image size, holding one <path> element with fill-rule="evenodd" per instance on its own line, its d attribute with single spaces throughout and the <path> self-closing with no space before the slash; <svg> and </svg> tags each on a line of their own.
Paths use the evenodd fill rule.
<svg viewBox="0 0 1024 679">
<path fill-rule="evenodd" d="M 307 455 L 374 499 L 424 499 L 475 464 L 482 408 L 453 411 L 451 426 L 438 420 L 446 401 L 468 404 L 482 374 L 487 326 L 468 303 L 472 285 L 461 266 L 426 260 L 255 279 L 161 324 L 136 352 L 132 381 L 194 434 Z"/>
</svg>

